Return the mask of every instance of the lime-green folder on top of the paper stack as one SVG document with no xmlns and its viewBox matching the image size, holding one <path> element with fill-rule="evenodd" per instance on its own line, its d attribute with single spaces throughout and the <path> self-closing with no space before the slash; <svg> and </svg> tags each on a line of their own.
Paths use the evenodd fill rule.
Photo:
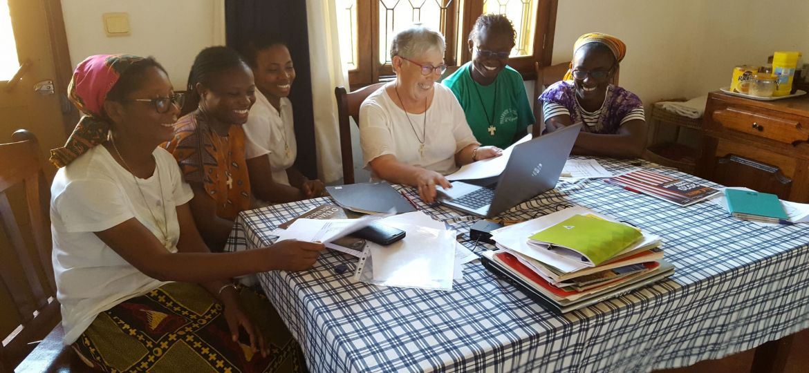
<svg viewBox="0 0 809 373">
<path fill-rule="evenodd" d="M 544 229 L 529 240 L 571 249 L 581 254 L 593 266 L 612 258 L 643 234 L 626 224 L 600 219 L 595 216 L 577 215 Z"/>
</svg>

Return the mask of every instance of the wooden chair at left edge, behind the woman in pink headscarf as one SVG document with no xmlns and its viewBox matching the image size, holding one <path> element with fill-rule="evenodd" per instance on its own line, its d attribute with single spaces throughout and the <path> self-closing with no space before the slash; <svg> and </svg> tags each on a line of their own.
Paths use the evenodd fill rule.
<svg viewBox="0 0 809 373">
<path fill-rule="evenodd" d="M 0 371 L 13 371 L 36 346 L 33 342 L 41 341 L 61 319 L 51 265 L 50 191 L 44 162 L 31 132 L 19 130 L 12 140 L 0 144 L 0 241 L 10 244 L 0 249 L 0 280 L 16 313 L 7 316 L 19 320 L 19 325 L 0 330 L 3 340 L 10 338 L 0 346 Z M 26 208 L 21 207 L 23 202 Z M 26 215 L 21 210 L 28 219 L 18 219 Z"/>
</svg>

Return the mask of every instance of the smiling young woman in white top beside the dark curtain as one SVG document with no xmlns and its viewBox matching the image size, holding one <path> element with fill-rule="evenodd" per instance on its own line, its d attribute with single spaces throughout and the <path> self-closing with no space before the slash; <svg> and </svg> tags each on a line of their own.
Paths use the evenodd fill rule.
<svg viewBox="0 0 809 373">
<path fill-rule="evenodd" d="M 253 194 L 267 203 L 322 195 L 323 182 L 309 180 L 293 166 L 298 146 L 287 98 L 295 80 L 290 50 L 279 40 L 261 40 L 245 54 L 259 90 L 244 124 L 244 156 Z"/>
</svg>

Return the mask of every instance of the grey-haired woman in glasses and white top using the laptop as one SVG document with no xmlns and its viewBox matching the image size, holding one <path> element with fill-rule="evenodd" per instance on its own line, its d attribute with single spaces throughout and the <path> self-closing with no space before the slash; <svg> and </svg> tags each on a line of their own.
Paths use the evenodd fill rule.
<svg viewBox="0 0 809 373">
<path fill-rule="evenodd" d="M 481 146 L 455 94 L 436 80 L 447 70 L 444 38 L 429 27 L 400 31 L 391 43 L 396 80 L 368 96 L 360 107 L 360 144 L 375 179 L 418 188 L 426 203 L 435 186 L 451 187 L 444 175 L 501 149 Z"/>
</svg>

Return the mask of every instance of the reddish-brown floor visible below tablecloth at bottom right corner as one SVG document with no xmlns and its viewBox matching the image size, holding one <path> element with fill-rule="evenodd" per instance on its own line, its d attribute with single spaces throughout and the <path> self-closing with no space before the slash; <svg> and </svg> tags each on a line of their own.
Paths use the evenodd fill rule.
<svg viewBox="0 0 809 373">
<path fill-rule="evenodd" d="M 706 360 L 690 367 L 654 371 L 654 373 L 739 373 L 750 371 L 754 350 L 747 350 L 719 360 Z M 795 334 L 784 373 L 809 372 L 809 329 Z"/>
</svg>

